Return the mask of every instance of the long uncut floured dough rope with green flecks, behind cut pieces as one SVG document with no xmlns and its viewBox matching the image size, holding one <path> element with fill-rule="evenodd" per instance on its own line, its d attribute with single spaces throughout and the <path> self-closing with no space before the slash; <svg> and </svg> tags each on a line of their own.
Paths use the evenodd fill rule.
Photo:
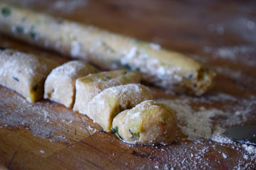
<svg viewBox="0 0 256 170">
<path fill-rule="evenodd" d="M 138 70 L 143 81 L 180 93 L 201 95 L 212 87 L 214 72 L 160 45 L 5 3 L 0 10 L 0 31 L 17 39 L 99 68 Z"/>
</svg>

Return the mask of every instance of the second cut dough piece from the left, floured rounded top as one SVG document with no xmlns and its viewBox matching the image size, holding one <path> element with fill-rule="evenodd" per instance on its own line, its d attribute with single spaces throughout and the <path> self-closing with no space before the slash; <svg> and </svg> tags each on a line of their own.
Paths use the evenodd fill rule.
<svg viewBox="0 0 256 170">
<path fill-rule="evenodd" d="M 45 81 L 44 99 L 72 108 L 76 94 L 76 79 L 99 71 L 85 61 L 74 60 L 53 69 Z"/>
</svg>

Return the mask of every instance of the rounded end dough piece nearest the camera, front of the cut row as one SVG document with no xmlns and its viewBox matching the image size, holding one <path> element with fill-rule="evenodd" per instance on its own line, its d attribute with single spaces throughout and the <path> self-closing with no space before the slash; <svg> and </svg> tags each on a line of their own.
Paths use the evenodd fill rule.
<svg viewBox="0 0 256 170">
<path fill-rule="evenodd" d="M 168 105 L 145 101 L 119 113 L 112 130 L 131 144 L 170 144 L 175 139 L 177 116 Z"/>
</svg>

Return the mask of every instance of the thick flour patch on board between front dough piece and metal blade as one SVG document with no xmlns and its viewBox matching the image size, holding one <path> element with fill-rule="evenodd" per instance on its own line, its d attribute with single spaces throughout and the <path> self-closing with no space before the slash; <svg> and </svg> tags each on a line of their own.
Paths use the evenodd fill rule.
<svg viewBox="0 0 256 170">
<path fill-rule="evenodd" d="M 223 128 L 241 125 L 249 118 L 256 118 L 255 113 L 253 113 L 256 110 L 256 100 L 240 100 L 222 93 L 216 96 L 203 96 L 201 98 L 181 96 L 179 99 L 173 100 L 157 99 L 157 102 L 163 102 L 177 112 L 178 126 L 188 136 L 187 139 L 189 140 L 204 138 L 221 143 L 233 143 L 232 140 L 221 135 L 224 133 Z M 221 104 L 218 104 L 218 109 L 206 109 L 204 107 L 207 103 L 224 102 L 233 103 L 235 106 L 221 106 Z M 200 104 L 201 107 L 194 109 L 192 106 L 195 104 Z"/>
</svg>

